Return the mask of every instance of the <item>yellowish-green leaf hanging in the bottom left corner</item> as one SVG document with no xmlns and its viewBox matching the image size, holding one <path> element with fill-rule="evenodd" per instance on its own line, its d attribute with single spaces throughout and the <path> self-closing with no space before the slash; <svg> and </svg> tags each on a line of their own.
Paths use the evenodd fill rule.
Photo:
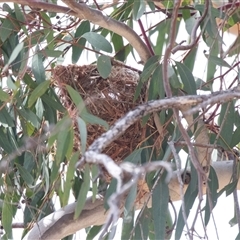
<svg viewBox="0 0 240 240">
<path fill-rule="evenodd" d="M 4 197 L 2 207 L 2 225 L 7 234 L 8 239 L 12 239 L 12 219 L 13 219 L 13 207 L 11 203 L 11 197 L 6 194 Z"/>
</svg>

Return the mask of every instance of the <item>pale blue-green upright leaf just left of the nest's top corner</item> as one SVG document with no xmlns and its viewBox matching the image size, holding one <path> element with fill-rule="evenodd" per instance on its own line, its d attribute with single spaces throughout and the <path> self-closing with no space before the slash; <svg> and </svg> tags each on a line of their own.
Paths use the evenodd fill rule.
<svg viewBox="0 0 240 240">
<path fill-rule="evenodd" d="M 38 45 L 35 50 L 35 55 L 33 56 L 33 59 L 32 59 L 32 71 L 33 71 L 33 75 L 36 79 L 36 82 L 38 84 L 40 84 L 46 80 L 45 69 L 43 66 L 43 56 L 39 52 Z"/>
</svg>

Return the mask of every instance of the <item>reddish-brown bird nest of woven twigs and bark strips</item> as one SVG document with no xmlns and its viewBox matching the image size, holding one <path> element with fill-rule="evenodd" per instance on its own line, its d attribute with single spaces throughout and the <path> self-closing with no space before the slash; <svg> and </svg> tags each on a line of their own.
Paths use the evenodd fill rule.
<svg viewBox="0 0 240 240">
<path fill-rule="evenodd" d="M 140 96 L 134 101 L 134 94 L 139 81 L 139 74 L 129 68 L 113 66 L 107 79 L 103 79 L 96 65 L 68 65 L 57 66 L 53 72 L 55 84 L 59 88 L 62 104 L 69 111 L 70 116 L 76 116 L 77 111 L 66 90 L 70 85 L 79 92 L 85 106 L 91 114 L 105 120 L 109 126 L 145 101 L 146 89 L 143 88 Z M 61 116 L 60 116 L 61 117 Z M 127 131 L 108 146 L 104 153 L 116 163 L 122 162 L 130 153 L 138 148 L 145 139 L 146 128 L 151 124 L 142 126 L 137 121 Z M 75 124 L 74 149 L 79 151 L 80 138 Z M 151 127 L 152 132 L 155 131 Z M 87 125 L 87 146 L 98 138 L 106 129 L 98 124 Z M 105 174 L 104 174 L 105 175 Z M 109 182 L 111 178 L 106 175 Z"/>
</svg>

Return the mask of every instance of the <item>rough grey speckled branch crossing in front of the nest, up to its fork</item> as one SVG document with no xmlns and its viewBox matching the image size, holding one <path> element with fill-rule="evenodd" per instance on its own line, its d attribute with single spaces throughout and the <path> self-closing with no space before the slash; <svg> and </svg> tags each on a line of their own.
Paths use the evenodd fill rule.
<svg viewBox="0 0 240 240">
<path fill-rule="evenodd" d="M 208 95 L 187 95 L 146 102 L 137 106 L 134 110 L 129 111 L 125 116 L 116 121 L 116 123 L 106 133 L 103 133 L 91 144 L 87 152 L 101 153 L 107 146 L 109 146 L 109 144 L 121 136 L 128 127 L 147 114 L 157 112 L 162 109 L 197 105 L 185 113 L 189 114 L 189 112 L 192 112 L 193 110 L 193 112 L 198 111 L 207 105 L 223 103 L 235 98 L 240 98 L 240 88 L 236 87 L 226 91 L 214 92 Z M 82 160 L 77 163 L 77 167 L 81 167 L 85 164 L 85 162 L 87 161 L 84 155 Z M 96 161 L 94 163 L 96 163 Z"/>
</svg>

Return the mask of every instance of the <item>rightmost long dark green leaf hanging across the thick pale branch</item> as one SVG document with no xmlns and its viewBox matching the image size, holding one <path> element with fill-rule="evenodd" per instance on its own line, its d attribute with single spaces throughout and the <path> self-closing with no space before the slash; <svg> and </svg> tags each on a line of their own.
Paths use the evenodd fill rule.
<svg viewBox="0 0 240 240">
<path fill-rule="evenodd" d="M 208 189 L 207 191 L 207 199 L 206 199 L 206 207 L 205 207 L 205 217 L 204 217 L 204 222 L 205 226 L 208 225 L 208 222 L 210 220 L 210 215 L 212 213 L 212 210 L 217 204 L 217 199 L 218 199 L 218 190 L 219 185 L 218 185 L 218 178 L 215 170 L 213 169 L 212 166 L 210 166 L 210 172 L 208 176 Z"/>
</svg>

